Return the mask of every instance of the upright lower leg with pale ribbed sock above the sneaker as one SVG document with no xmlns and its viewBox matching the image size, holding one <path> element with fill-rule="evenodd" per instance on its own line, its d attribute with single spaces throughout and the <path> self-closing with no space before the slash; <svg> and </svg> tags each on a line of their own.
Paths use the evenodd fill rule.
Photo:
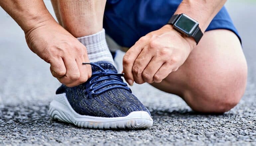
<svg viewBox="0 0 256 146">
<path fill-rule="evenodd" d="M 103 29 L 106 0 L 52 0 L 52 4 L 62 27 L 86 47 L 90 62 L 114 64 Z"/>
</svg>

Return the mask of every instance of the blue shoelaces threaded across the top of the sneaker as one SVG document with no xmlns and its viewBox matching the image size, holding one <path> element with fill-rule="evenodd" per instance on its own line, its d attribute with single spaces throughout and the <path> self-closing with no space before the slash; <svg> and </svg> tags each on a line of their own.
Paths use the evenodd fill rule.
<svg viewBox="0 0 256 146">
<path fill-rule="evenodd" d="M 85 87 L 86 87 L 86 92 L 88 94 L 88 97 L 91 97 L 93 95 L 99 95 L 103 92 L 106 92 L 112 89 L 117 89 L 117 88 L 125 89 L 129 92 L 132 92 L 131 89 L 127 86 L 127 84 L 123 82 L 123 79 L 121 78 L 122 76 L 124 76 L 123 74 L 115 73 L 112 70 L 105 70 L 95 63 L 83 62 L 83 64 L 90 64 L 101 70 L 101 72 L 92 73 L 91 78 L 87 82 L 85 82 Z M 110 81 L 102 82 L 104 80 L 110 80 Z M 100 82 L 102 83 L 97 85 Z M 109 85 L 116 85 L 116 86 L 109 86 Z M 104 87 L 106 88 L 103 90 L 100 90 Z"/>
</svg>

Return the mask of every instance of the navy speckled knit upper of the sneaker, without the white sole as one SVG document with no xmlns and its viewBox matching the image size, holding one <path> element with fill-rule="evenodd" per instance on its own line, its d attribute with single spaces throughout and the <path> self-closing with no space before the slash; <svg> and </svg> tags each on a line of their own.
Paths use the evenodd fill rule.
<svg viewBox="0 0 256 146">
<path fill-rule="evenodd" d="M 150 114 L 111 63 L 90 64 L 92 76 L 85 83 L 71 88 L 62 85 L 56 91 L 56 94 L 66 93 L 68 102 L 77 113 L 97 117 L 127 116 L 133 111 Z"/>
</svg>

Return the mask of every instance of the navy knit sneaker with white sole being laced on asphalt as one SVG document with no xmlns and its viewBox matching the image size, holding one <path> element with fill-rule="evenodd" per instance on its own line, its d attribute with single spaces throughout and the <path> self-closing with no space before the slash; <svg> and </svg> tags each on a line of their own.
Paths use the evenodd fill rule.
<svg viewBox="0 0 256 146">
<path fill-rule="evenodd" d="M 62 85 L 50 103 L 50 116 L 78 127 L 97 129 L 148 128 L 149 110 L 132 94 L 108 62 L 91 64 L 92 76 L 76 87 Z"/>
</svg>

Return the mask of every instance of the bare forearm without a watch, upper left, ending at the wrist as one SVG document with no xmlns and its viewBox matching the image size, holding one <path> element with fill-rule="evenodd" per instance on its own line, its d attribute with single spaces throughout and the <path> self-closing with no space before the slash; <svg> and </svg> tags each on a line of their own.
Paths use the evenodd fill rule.
<svg viewBox="0 0 256 146">
<path fill-rule="evenodd" d="M 55 22 L 43 0 L 1 0 L 0 6 L 25 33 L 45 23 Z"/>
</svg>

